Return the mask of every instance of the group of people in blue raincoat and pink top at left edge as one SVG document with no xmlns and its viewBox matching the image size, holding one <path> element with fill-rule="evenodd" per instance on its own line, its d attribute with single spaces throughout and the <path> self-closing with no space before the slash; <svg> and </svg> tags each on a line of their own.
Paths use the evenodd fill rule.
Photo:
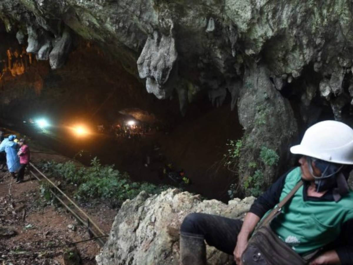
<svg viewBox="0 0 353 265">
<path fill-rule="evenodd" d="M 5 138 L 4 132 L 0 131 L 0 170 L 8 170 L 11 176 L 16 178 L 16 183 L 21 183 L 29 160 L 30 150 L 26 140 L 18 140 L 16 135 Z"/>
</svg>

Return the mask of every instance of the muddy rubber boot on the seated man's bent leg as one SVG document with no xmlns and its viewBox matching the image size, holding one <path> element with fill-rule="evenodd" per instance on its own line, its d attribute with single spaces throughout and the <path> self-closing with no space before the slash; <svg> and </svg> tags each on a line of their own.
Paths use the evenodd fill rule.
<svg viewBox="0 0 353 265">
<path fill-rule="evenodd" d="M 180 265 L 207 265 L 202 235 L 180 232 Z"/>
</svg>

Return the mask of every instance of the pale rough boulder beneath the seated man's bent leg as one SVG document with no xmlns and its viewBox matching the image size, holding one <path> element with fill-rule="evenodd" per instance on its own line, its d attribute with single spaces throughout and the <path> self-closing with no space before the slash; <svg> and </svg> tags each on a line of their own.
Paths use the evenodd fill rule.
<svg viewBox="0 0 353 265">
<path fill-rule="evenodd" d="M 127 200 L 115 217 L 109 240 L 97 255 L 99 265 L 179 264 L 179 228 L 190 212 L 243 218 L 254 198 L 234 199 L 228 205 L 202 201 L 199 195 L 169 189 L 160 195 L 140 193 Z M 207 246 L 208 264 L 232 264 L 232 256 Z"/>
</svg>

